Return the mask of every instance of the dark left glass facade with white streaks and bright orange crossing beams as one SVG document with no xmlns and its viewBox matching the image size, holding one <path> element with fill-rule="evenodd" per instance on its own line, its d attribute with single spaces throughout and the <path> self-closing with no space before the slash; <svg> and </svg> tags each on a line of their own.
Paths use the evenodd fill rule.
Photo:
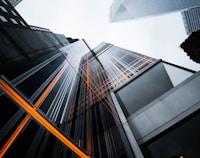
<svg viewBox="0 0 200 158">
<path fill-rule="evenodd" d="M 41 59 L 42 61 L 40 61 Z M 62 127 L 58 129 L 60 124 L 66 122 L 69 95 L 75 84 L 76 72 L 69 64 L 72 62 L 73 54 L 69 55 L 66 60 L 63 52 L 57 51 L 51 55 L 47 54 L 41 59 L 35 59 L 40 61 L 39 64 L 37 61 L 32 61 L 30 65 L 26 63 L 24 68 L 29 67 L 28 69 L 15 69 L 15 73 L 4 73 L 1 76 L 0 102 L 6 105 L 1 106 L 1 111 L 8 112 L 10 110 L 11 112 L 8 112 L 10 115 L 7 117 L 1 115 L 0 157 L 19 154 L 17 150 L 13 151 L 13 146 L 25 136 L 22 131 L 27 131 L 29 129 L 27 127 L 36 128 L 36 126 L 39 131 L 46 129 L 43 133 L 46 135 L 45 137 L 48 135 L 47 140 L 50 140 L 52 136 L 54 141 L 59 140 L 58 146 L 59 144 L 60 146 L 64 145 L 68 155 L 74 152 L 79 157 L 88 157 L 88 154 L 78 147 L 69 138 L 69 135 L 66 135 L 67 131 L 64 131 Z M 34 80 L 37 82 L 33 83 Z M 32 84 L 34 86 L 31 86 Z M 36 124 L 33 123 L 35 121 Z M 32 140 L 29 142 L 30 147 L 36 139 L 38 143 L 41 143 L 44 138 L 39 138 L 37 134 L 33 137 L 30 136 L 29 140 Z M 24 141 L 24 143 L 27 142 Z M 48 142 L 43 145 L 48 146 Z M 26 152 L 23 150 L 24 148 L 22 145 L 19 150 L 22 152 L 21 156 L 23 153 L 26 153 L 25 157 L 46 154 L 46 150 L 38 152 L 27 149 Z"/>
</svg>

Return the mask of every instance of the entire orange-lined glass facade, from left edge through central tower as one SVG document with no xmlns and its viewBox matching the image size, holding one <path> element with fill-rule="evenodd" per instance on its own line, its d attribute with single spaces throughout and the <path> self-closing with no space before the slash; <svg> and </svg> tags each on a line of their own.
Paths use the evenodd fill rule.
<svg viewBox="0 0 200 158">
<path fill-rule="evenodd" d="M 157 60 L 102 50 L 78 41 L 1 73 L 1 156 L 134 157 L 110 93 Z"/>
</svg>

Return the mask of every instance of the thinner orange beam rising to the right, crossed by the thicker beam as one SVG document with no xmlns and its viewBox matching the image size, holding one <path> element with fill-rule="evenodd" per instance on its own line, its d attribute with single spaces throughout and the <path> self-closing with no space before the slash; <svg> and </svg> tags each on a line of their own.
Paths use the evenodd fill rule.
<svg viewBox="0 0 200 158">
<path fill-rule="evenodd" d="M 56 77 L 51 81 L 51 83 L 49 84 L 49 86 L 43 92 L 43 94 L 41 95 L 41 97 L 38 99 L 38 101 L 35 103 L 35 105 L 33 107 L 35 110 L 38 108 L 38 106 L 43 102 L 43 100 L 49 94 L 49 92 L 54 87 L 54 85 L 56 84 L 56 82 L 58 81 L 58 79 L 60 78 L 60 76 L 63 74 L 63 72 L 67 68 L 67 66 L 68 65 L 66 64 L 66 65 L 64 65 L 62 67 L 62 69 L 59 71 L 59 73 L 56 75 Z M 21 133 L 21 131 L 24 129 L 26 123 L 28 123 L 28 121 L 30 120 L 30 118 L 31 118 L 31 115 L 29 115 L 29 114 L 26 115 L 26 117 L 24 118 L 24 120 L 20 123 L 20 125 L 17 127 L 17 129 L 15 130 L 15 132 L 11 135 L 11 137 L 5 143 L 5 145 L 3 146 L 3 148 L 0 150 L 0 157 L 3 157 L 3 155 L 7 152 L 7 150 L 13 144 L 13 142 L 15 141 L 15 139 L 19 136 L 19 134 Z"/>
</svg>

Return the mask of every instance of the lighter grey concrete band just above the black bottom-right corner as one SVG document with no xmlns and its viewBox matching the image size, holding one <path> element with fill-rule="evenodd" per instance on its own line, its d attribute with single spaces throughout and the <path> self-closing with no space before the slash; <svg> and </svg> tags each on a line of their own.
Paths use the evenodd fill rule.
<svg viewBox="0 0 200 158">
<path fill-rule="evenodd" d="M 146 105 L 127 120 L 139 144 L 200 108 L 200 72 Z"/>
</svg>

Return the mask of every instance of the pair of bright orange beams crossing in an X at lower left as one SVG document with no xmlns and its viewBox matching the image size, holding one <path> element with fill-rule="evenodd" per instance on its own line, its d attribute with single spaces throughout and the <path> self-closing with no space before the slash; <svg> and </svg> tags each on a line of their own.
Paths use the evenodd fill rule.
<svg viewBox="0 0 200 158">
<path fill-rule="evenodd" d="M 58 75 L 54 78 L 54 80 L 51 82 L 49 87 L 44 91 L 44 93 L 41 95 L 41 97 L 37 100 L 37 102 L 32 105 L 29 105 L 26 100 L 24 100 L 15 90 L 10 87 L 3 79 L 0 81 L 0 86 L 3 89 L 3 91 L 9 95 L 18 105 L 22 106 L 23 109 L 25 109 L 29 114 L 26 115 L 26 117 L 23 119 L 21 124 L 18 126 L 18 128 L 14 131 L 13 135 L 11 135 L 10 139 L 7 141 L 7 143 L 2 147 L 0 153 L 1 157 L 7 152 L 9 147 L 13 144 L 14 140 L 18 137 L 18 135 L 21 133 L 21 131 L 24 129 L 24 127 L 28 124 L 31 117 L 36 119 L 40 124 L 42 124 L 45 128 L 47 128 L 53 135 L 55 135 L 60 141 L 62 141 L 66 146 L 71 148 L 75 153 L 77 153 L 81 157 L 88 157 L 85 153 L 83 153 L 78 147 L 76 147 L 66 136 L 62 135 L 53 125 L 51 125 L 43 116 L 41 116 L 39 113 L 36 112 L 38 106 L 40 106 L 41 102 L 46 98 L 46 95 L 48 95 L 49 90 L 51 87 L 55 85 L 55 83 L 58 81 L 59 77 L 64 72 L 66 66 L 64 66 Z M 6 128 L 6 127 L 4 127 Z"/>
</svg>

